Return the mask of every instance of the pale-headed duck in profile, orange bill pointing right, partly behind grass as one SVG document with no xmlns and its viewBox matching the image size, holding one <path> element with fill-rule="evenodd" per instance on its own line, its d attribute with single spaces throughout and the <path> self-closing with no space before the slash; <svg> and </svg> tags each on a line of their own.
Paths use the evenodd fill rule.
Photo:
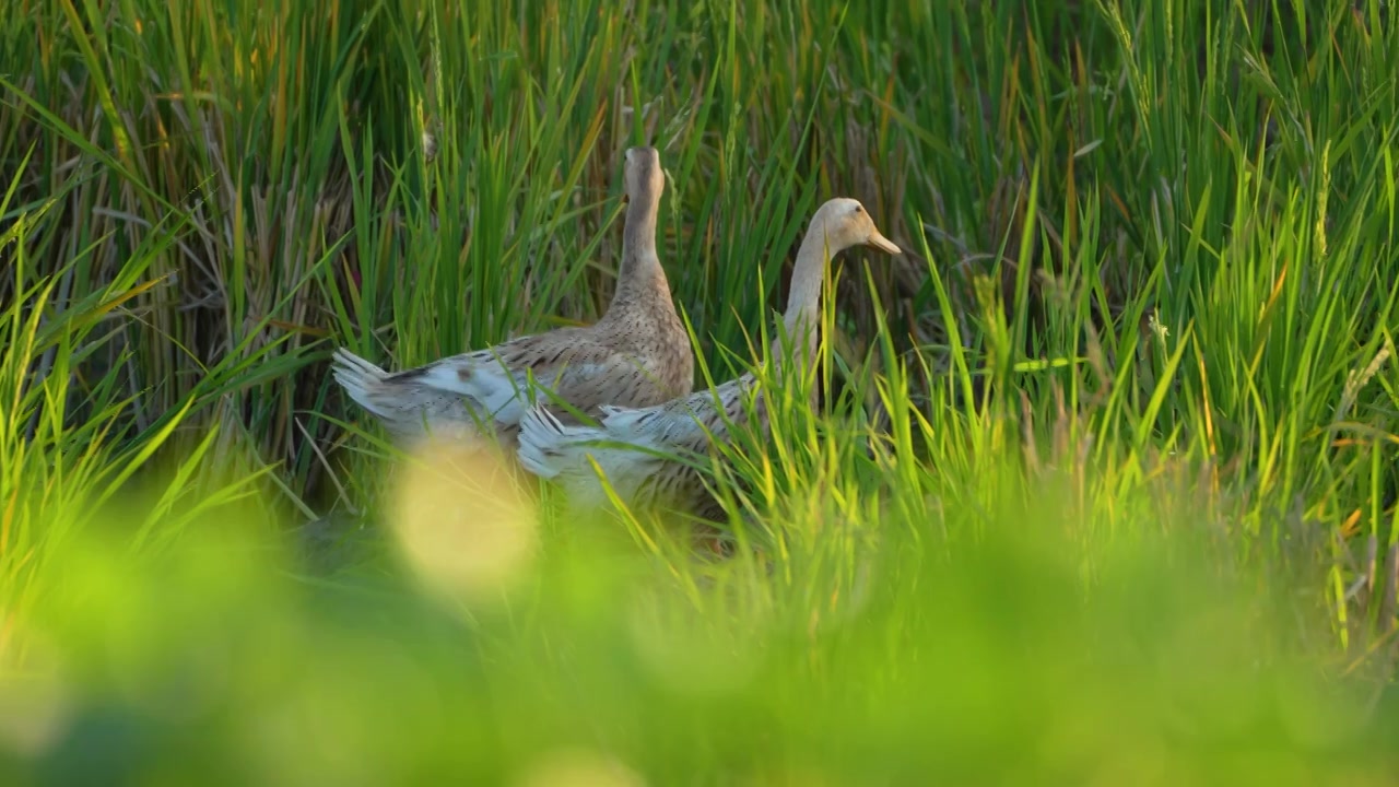
<svg viewBox="0 0 1399 787">
<path fill-rule="evenodd" d="M 879 231 L 859 200 L 835 197 L 817 209 L 797 249 L 782 321 L 793 360 L 814 361 L 825 269 L 834 255 L 859 245 L 902 253 Z M 782 347 L 778 336 L 771 354 L 778 365 L 783 363 Z M 695 459 L 715 441 L 730 441 L 729 424 L 743 415 L 748 392 L 757 386 L 755 372 L 747 371 L 713 389 L 660 405 L 604 405 L 596 424 L 564 423 L 543 408 L 532 408 L 520 417 L 519 464 L 561 486 L 575 506 L 602 506 L 607 500 L 592 466 L 596 462 L 613 493 L 628 506 L 665 504 L 713 518 L 722 510 L 705 487 Z M 762 392 L 754 394 L 754 416 L 767 434 Z M 814 406 L 814 392 L 810 403 Z"/>
</svg>

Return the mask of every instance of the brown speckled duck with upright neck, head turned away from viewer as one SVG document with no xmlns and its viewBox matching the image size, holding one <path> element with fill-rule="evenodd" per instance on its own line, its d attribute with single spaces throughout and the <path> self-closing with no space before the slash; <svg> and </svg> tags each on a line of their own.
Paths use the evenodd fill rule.
<svg viewBox="0 0 1399 787">
<path fill-rule="evenodd" d="M 624 182 L 617 284 L 597 322 L 518 336 L 397 372 L 340 347 L 332 368 L 336 382 L 396 437 L 490 437 L 506 450 L 532 403 L 561 423 L 576 423 L 568 408 L 597 417 L 603 405 L 646 408 L 690 394 L 690 335 L 656 252 L 666 182 L 660 153 L 628 148 Z M 550 398 L 540 388 L 557 401 L 546 405 Z"/>
</svg>

